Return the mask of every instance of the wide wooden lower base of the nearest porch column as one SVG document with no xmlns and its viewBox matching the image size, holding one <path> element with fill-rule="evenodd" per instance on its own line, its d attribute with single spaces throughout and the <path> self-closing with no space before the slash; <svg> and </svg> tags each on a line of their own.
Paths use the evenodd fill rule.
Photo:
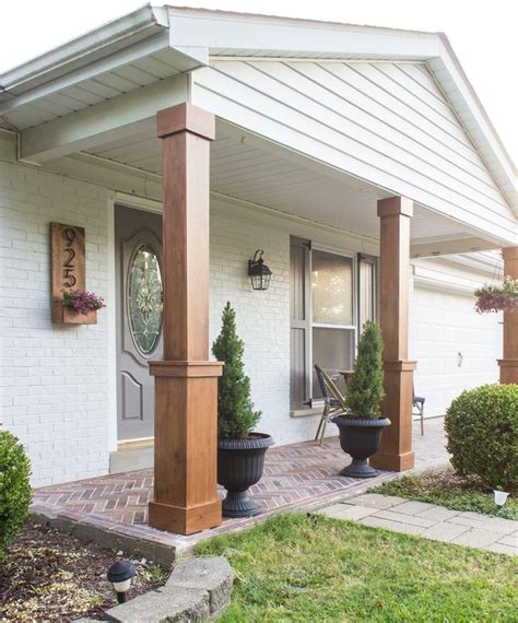
<svg viewBox="0 0 518 623">
<path fill-rule="evenodd" d="M 151 362 L 155 377 L 153 528 L 192 534 L 219 526 L 217 377 L 209 361 Z"/>
</svg>

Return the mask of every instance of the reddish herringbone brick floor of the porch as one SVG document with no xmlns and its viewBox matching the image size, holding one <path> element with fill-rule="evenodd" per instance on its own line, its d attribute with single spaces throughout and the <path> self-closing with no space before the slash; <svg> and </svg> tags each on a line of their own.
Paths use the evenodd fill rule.
<svg viewBox="0 0 518 623">
<path fill-rule="evenodd" d="M 416 468 L 446 463 L 443 420 L 427 421 L 423 437 L 417 426 L 414 424 Z M 340 449 L 338 437 L 326 439 L 322 446 L 306 442 L 271 448 L 267 452 L 263 478 L 251 487 L 251 496 L 263 508 L 262 515 L 250 519 L 225 519 L 213 530 L 189 537 L 148 526 L 152 469 L 37 489 L 32 512 L 183 550 L 200 539 L 242 529 L 273 513 L 318 508 L 395 478 L 390 472 L 367 481 L 338 475 L 349 461 Z"/>
</svg>

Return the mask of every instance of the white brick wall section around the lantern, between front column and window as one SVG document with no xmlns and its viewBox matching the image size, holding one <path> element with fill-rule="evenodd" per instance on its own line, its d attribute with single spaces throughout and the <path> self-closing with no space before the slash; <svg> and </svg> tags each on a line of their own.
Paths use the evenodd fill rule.
<svg viewBox="0 0 518 623">
<path fill-rule="evenodd" d="M 257 248 L 273 271 L 266 292 L 255 292 L 247 277 Z M 276 443 L 298 439 L 290 418 L 290 235 L 273 227 L 250 226 L 226 216 L 211 218 L 211 344 L 229 301 L 245 342 L 245 367 L 252 400 L 262 411 L 258 430 Z"/>
</svg>

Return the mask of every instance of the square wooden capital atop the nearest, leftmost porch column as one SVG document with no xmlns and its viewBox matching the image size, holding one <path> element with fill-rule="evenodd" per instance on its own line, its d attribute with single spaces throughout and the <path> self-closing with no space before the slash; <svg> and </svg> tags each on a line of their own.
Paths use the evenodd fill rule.
<svg viewBox="0 0 518 623">
<path fill-rule="evenodd" d="M 188 102 L 158 110 L 156 121 L 160 139 L 179 132 L 190 132 L 209 141 L 215 138 L 214 115 Z"/>
</svg>

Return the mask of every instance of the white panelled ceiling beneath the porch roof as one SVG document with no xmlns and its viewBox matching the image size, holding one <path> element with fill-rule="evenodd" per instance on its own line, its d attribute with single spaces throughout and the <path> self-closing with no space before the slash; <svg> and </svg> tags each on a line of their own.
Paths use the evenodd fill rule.
<svg viewBox="0 0 518 623">
<path fill-rule="evenodd" d="M 128 137 L 90 153 L 161 174 L 161 141 Z M 217 126 L 211 145 L 211 190 L 314 222 L 379 237 L 376 201 L 387 192 L 353 179 L 338 179 L 311 168 L 310 163 L 283 158 L 228 136 Z M 412 219 L 413 244 L 435 238 L 469 237 L 454 221 L 416 205 Z"/>
</svg>

